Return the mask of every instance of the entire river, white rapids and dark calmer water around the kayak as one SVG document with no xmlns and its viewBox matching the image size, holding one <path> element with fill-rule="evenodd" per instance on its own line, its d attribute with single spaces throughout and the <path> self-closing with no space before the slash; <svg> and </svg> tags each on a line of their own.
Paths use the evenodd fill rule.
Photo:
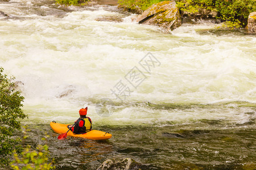
<svg viewBox="0 0 256 170">
<path fill-rule="evenodd" d="M 29 117 L 20 137 L 49 145 L 57 169 L 117 158 L 142 169 L 256 167 L 255 35 L 210 23 L 164 33 L 107 5 L 12 0 L 0 11 L 0 66 Z M 58 141 L 49 122 L 72 124 L 86 106 L 93 129 L 113 137 Z"/>
</svg>

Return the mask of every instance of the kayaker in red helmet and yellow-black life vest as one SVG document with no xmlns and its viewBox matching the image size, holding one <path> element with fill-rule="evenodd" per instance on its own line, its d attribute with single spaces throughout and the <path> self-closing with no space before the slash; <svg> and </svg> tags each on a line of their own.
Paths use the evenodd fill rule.
<svg viewBox="0 0 256 170">
<path fill-rule="evenodd" d="M 71 131 L 76 134 L 83 134 L 92 130 L 92 121 L 86 117 L 88 107 L 79 110 L 80 118 L 75 121 L 75 125 L 69 125 Z"/>
</svg>

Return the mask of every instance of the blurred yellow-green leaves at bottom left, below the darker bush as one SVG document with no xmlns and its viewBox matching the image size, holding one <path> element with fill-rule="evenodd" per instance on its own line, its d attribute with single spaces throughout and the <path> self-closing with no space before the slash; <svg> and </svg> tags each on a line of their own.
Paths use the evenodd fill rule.
<svg viewBox="0 0 256 170">
<path fill-rule="evenodd" d="M 14 152 L 14 160 L 10 163 L 11 168 L 18 170 L 27 169 L 55 169 L 53 166 L 54 159 L 49 161 L 49 152 L 47 145 L 39 145 L 36 150 L 31 150 L 31 146 L 27 146 L 24 151 L 19 155 Z"/>
</svg>

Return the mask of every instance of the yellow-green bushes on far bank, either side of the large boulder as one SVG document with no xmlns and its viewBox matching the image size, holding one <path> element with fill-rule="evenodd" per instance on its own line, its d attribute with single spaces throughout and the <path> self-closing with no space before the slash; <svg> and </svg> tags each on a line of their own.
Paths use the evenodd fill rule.
<svg viewBox="0 0 256 170">
<path fill-rule="evenodd" d="M 119 6 L 130 10 L 146 10 L 162 0 L 119 0 Z M 256 11 L 255 0 L 176 0 L 181 13 L 196 14 L 204 10 L 216 11 L 216 19 L 225 22 L 228 28 L 245 27 L 250 12 Z"/>
</svg>

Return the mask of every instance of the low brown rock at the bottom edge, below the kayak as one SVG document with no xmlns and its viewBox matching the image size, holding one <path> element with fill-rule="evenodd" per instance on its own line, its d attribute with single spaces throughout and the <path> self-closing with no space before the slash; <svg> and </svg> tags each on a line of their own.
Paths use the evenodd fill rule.
<svg viewBox="0 0 256 170">
<path fill-rule="evenodd" d="M 104 163 L 98 167 L 97 170 L 120 170 L 120 169 L 139 169 L 141 164 L 135 162 L 135 160 L 131 158 L 124 158 L 124 159 L 108 159 L 105 160 Z"/>
</svg>

